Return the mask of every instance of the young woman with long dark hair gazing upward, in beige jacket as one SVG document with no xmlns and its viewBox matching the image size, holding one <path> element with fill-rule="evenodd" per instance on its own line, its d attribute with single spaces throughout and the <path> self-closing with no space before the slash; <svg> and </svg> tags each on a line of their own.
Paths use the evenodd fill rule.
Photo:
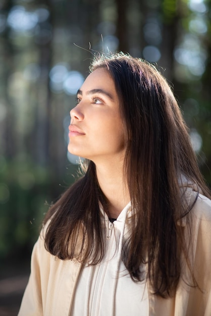
<svg viewBox="0 0 211 316">
<path fill-rule="evenodd" d="M 44 219 L 19 316 L 210 316 L 211 201 L 164 77 L 95 57 L 70 116 L 85 173 Z"/>
</svg>

